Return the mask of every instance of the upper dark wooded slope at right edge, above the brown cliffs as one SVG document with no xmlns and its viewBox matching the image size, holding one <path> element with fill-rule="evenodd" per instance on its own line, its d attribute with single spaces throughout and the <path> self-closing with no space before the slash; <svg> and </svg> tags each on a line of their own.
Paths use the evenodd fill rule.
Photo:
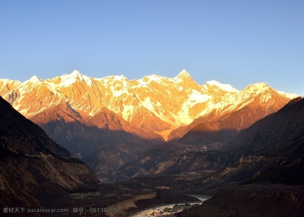
<svg viewBox="0 0 304 217">
<path fill-rule="evenodd" d="M 235 157 L 268 152 L 275 157 L 303 153 L 304 98 L 298 97 L 278 112 L 254 123 L 232 139 L 228 146 Z M 253 134 L 254 133 L 254 134 Z"/>
</svg>

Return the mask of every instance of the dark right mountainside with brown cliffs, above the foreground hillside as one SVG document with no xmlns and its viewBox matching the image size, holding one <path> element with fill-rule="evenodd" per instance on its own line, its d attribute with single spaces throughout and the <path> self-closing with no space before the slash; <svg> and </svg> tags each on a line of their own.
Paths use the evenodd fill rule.
<svg viewBox="0 0 304 217">
<path fill-rule="evenodd" d="M 225 164 L 231 165 L 206 178 L 201 185 L 203 191 L 212 193 L 219 186 L 244 181 L 304 184 L 303 123 L 304 98 L 299 97 L 244 129 L 228 143 Z"/>
</svg>

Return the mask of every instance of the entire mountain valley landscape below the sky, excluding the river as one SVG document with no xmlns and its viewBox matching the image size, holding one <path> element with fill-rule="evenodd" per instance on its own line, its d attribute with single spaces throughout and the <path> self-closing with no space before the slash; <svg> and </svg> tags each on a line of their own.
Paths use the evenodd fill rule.
<svg viewBox="0 0 304 217">
<path fill-rule="evenodd" d="M 0 95 L 3 216 L 128 216 L 190 195 L 211 198 L 151 216 L 302 215 L 302 97 L 185 70 L 0 79 Z M 69 212 L 27 212 L 53 208 Z"/>
</svg>

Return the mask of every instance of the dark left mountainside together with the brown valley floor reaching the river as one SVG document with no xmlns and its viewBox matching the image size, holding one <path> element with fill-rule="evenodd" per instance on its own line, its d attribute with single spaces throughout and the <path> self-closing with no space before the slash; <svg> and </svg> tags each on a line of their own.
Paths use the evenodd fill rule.
<svg viewBox="0 0 304 217">
<path fill-rule="evenodd" d="M 140 183 L 102 184 L 83 161 L 1 97 L 0 115 L 1 216 L 96 216 L 95 209 L 114 207 L 98 216 L 122 217 L 130 208 L 198 200 Z"/>
</svg>

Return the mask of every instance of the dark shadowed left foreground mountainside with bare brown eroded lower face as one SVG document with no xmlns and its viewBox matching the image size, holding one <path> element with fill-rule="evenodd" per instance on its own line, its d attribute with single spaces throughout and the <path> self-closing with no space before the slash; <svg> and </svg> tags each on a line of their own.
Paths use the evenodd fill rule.
<svg viewBox="0 0 304 217">
<path fill-rule="evenodd" d="M 98 183 L 92 170 L 0 98 L 0 204 L 52 206 L 65 190 Z"/>
</svg>

